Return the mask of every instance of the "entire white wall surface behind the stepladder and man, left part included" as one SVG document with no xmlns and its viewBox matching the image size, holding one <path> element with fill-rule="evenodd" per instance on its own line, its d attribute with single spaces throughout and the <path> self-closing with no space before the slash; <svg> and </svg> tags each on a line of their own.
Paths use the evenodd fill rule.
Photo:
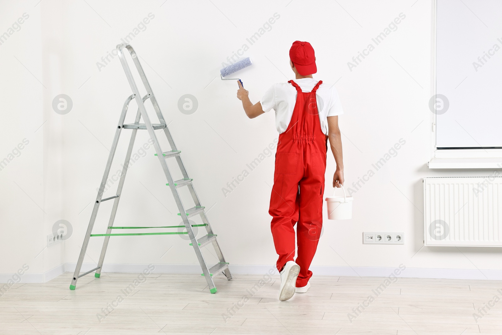
<svg viewBox="0 0 502 335">
<path fill-rule="evenodd" d="M 329 272 L 329 266 L 338 270 L 348 266 L 393 268 L 401 263 L 408 268 L 502 270 L 496 262 L 498 250 L 421 249 L 421 178 L 458 175 L 454 171 L 434 172 L 426 166 L 430 159 L 430 1 L 318 1 L 309 5 L 308 11 L 297 0 L 253 4 L 144 1 L 141 6 L 137 2 L 116 5 L 52 0 L 37 7 L 36 2 L 15 7 L 4 3 L 2 22 L 14 22 L 28 11 L 38 11 L 38 16 L 31 16 L 32 21 L 28 20 L 20 32 L 0 46 L 2 61 L 9 64 L 2 85 L 16 97 L 8 102 L 10 108 L 5 111 L 17 111 L 3 113 L 13 126 L 1 135 L 0 157 L 6 157 L 23 138 L 34 139 L 21 157 L 0 171 L 1 187 L 7 190 L 0 195 L 2 227 L 13 235 L 0 244 L 2 252 L 12 255 L 0 272 L 12 273 L 22 264 L 33 262 L 58 219 L 68 220 L 73 234 L 68 241 L 45 249 L 39 257 L 46 262 L 33 272 L 76 262 L 120 109 L 131 94 L 117 57 L 100 69 L 96 63 L 102 62 L 101 57 L 150 13 L 154 18 L 131 44 L 140 56 L 201 202 L 212 207 L 208 217 L 230 264 L 272 265 L 276 261 L 268 214 L 274 156 L 266 158 L 226 197 L 222 188 L 247 169 L 246 163 L 258 157 L 278 134 L 273 114 L 254 120 L 245 117 L 235 98 L 236 83 L 221 81 L 218 71 L 232 52 L 247 44 L 249 50 L 243 56 L 252 57 L 254 65 L 239 76 L 256 102 L 273 83 L 293 78 L 289 47 L 295 40 L 306 40 L 316 50 L 315 78 L 327 84 L 336 82 L 345 110 L 340 127 L 346 186 L 355 190 L 352 182 L 372 169 L 372 163 L 384 157 L 400 139 L 406 141 L 397 156 L 353 194 L 353 219 L 330 221 L 325 217 L 313 266 L 324 267 L 325 272 Z M 280 17 L 272 29 L 250 45 L 246 38 L 258 32 L 275 13 Z M 375 45 L 371 38 L 383 32 L 400 13 L 406 18 L 397 30 Z M 347 62 L 369 43 L 374 50 L 349 69 Z M 47 89 L 14 55 L 24 60 L 39 79 L 43 78 Z M 66 115 L 52 110 L 52 99 L 60 93 L 73 101 Z M 178 99 L 187 93 L 199 103 L 192 115 L 182 114 L 177 107 Z M 132 104 L 129 119 L 135 114 Z M 33 134 L 45 120 L 43 128 Z M 127 130 L 122 132 L 112 174 L 123 161 L 128 135 Z M 135 152 L 147 140 L 146 132 L 139 132 Z M 180 222 L 153 154 L 150 148 L 129 170 L 115 225 Z M 326 194 L 332 192 L 334 168 L 334 159 L 328 155 Z M 188 206 L 189 202 L 185 203 Z M 105 231 L 110 209 L 111 201 L 101 205 L 94 233 Z M 19 227 L 25 228 L 23 233 L 14 234 Z M 405 232 L 406 243 L 362 245 L 363 231 Z M 85 263 L 97 261 L 101 243 L 102 238 L 91 239 Z M 216 261 L 212 251 L 204 252 L 208 262 Z M 197 264 L 197 260 L 188 242 L 178 236 L 116 237 L 109 244 L 105 263 Z M 484 278 L 482 273 L 478 275 Z"/>
</svg>

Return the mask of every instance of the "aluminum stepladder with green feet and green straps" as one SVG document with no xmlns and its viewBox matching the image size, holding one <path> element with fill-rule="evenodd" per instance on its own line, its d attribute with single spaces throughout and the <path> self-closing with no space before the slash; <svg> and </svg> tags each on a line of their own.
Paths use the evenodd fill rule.
<svg viewBox="0 0 502 335">
<path fill-rule="evenodd" d="M 129 51 L 136 68 L 139 72 L 139 75 L 141 77 L 141 80 L 143 81 L 143 84 L 146 88 L 147 94 L 142 98 L 140 95 L 140 92 L 138 90 L 138 87 L 136 86 L 136 82 L 133 78 L 133 74 L 131 73 L 131 69 L 129 68 L 129 65 L 127 63 L 126 58 L 124 57 L 123 49 L 126 49 Z M 193 246 L 193 249 L 195 251 L 195 254 L 197 255 L 197 258 L 199 260 L 200 266 L 202 268 L 202 275 L 205 277 L 207 284 L 209 286 L 209 291 L 211 293 L 216 293 L 216 286 L 214 285 L 212 276 L 213 274 L 218 274 L 222 272 L 225 277 L 230 280 L 232 279 L 232 275 L 230 271 L 228 270 L 228 263 L 225 262 L 225 259 L 223 257 L 223 254 L 221 253 L 221 250 L 219 248 L 218 242 L 216 241 L 216 235 L 213 233 L 211 226 L 209 224 L 209 220 L 206 217 L 206 214 L 204 212 L 204 207 L 201 206 L 199 198 L 197 196 L 197 193 L 195 192 L 195 188 L 193 187 L 192 184 L 192 179 L 189 178 L 188 173 L 185 169 L 185 166 L 183 165 L 183 161 L 181 160 L 180 156 L 180 151 L 177 150 L 176 145 L 174 144 L 173 138 L 171 136 L 171 133 L 169 132 L 169 129 L 167 128 L 167 124 L 164 120 L 164 117 L 161 113 L 161 110 L 159 108 L 159 105 L 157 104 L 157 100 L 155 98 L 155 95 L 152 91 L 152 88 L 150 87 L 150 84 L 147 80 L 147 77 L 145 76 L 145 72 L 143 71 L 143 68 L 140 64 L 140 61 L 138 59 L 138 56 L 136 52 L 134 51 L 133 47 L 129 44 L 119 44 L 117 45 L 117 53 L 118 57 L 120 59 L 120 63 L 122 64 L 122 67 L 124 69 L 124 72 L 126 72 L 126 77 L 129 81 L 129 84 L 131 85 L 131 89 L 133 91 L 133 94 L 129 96 L 126 101 L 123 104 L 122 107 L 122 112 L 120 115 L 120 119 L 118 121 L 118 126 L 115 131 L 115 137 L 113 138 L 113 143 L 111 146 L 110 154 L 108 156 L 108 161 L 106 162 L 106 168 L 104 171 L 103 179 L 101 180 L 101 185 L 99 187 L 99 191 L 96 197 L 96 200 L 94 202 L 94 208 L 92 210 L 91 218 L 89 221 L 89 226 L 87 227 L 87 231 L 85 233 L 85 238 L 84 242 L 82 244 L 82 249 L 80 251 L 80 256 L 78 258 L 77 266 L 75 268 L 75 273 L 73 274 L 73 278 L 71 281 L 70 289 L 74 290 L 77 284 L 78 278 L 85 276 L 86 274 L 89 274 L 93 271 L 96 271 L 94 276 L 96 278 L 99 278 L 101 274 L 101 269 L 103 266 L 103 261 L 104 261 L 104 256 L 106 253 L 106 248 L 108 246 L 108 241 L 110 236 L 132 236 L 132 235 L 171 235 L 171 234 L 188 234 L 188 237 L 190 238 L 191 244 Z M 127 110 L 129 107 L 129 103 L 135 99 L 137 104 L 138 104 L 138 112 L 136 115 L 135 123 L 134 124 L 124 124 L 124 120 L 126 119 L 126 114 Z M 154 106 L 155 112 L 157 114 L 157 117 L 159 119 L 160 124 L 152 124 L 150 122 L 150 118 L 148 117 L 147 110 L 145 108 L 144 102 L 150 99 L 152 102 L 152 105 Z M 140 124 L 140 119 L 143 118 L 144 124 Z M 132 129 L 132 134 L 131 134 L 131 140 L 129 142 L 129 148 L 126 154 L 126 159 L 123 164 L 122 168 L 122 173 L 120 175 L 120 180 L 118 182 L 117 186 L 117 192 L 116 195 L 102 199 L 102 195 L 104 192 L 104 188 L 106 186 L 106 182 L 108 179 L 108 174 L 110 172 L 111 168 L 111 163 L 113 161 L 113 156 L 115 154 L 115 149 L 117 147 L 118 139 L 120 137 L 120 132 L 122 129 Z M 138 229 L 138 227 L 113 227 L 113 221 L 115 219 L 115 214 L 117 212 L 117 207 L 118 207 L 118 202 L 120 200 L 120 194 L 122 192 L 122 187 L 124 184 L 124 180 L 126 179 L 126 173 L 128 170 L 129 166 L 129 161 L 131 159 L 131 154 L 133 151 L 133 146 L 134 146 L 134 141 L 136 139 L 136 133 L 139 129 L 145 129 L 148 130 L 148 133 L 150 135 L 150 138 L 153 141 L 153 146 L 155 148 L 156 156 L 158 156 L 160 164 L 162 166 L 162 169 L 164 171 L 164 174 L 166 175 L 168 183 L 166 185 L 169 185 L 169 188 L 171 189 L 171 192 L 173 193 L 174 199 L 176 200 L 176 205 L 178 206 L 179 213 L 178 215 L 181 215 L 180 213 L 185 213 L 185 215 L 181 215 L 183 219 L 183 224 L 184 226 L 166 226 L 166 227 L 146 227 L 146 228 L 179 228 L 179 227 L 184 227 L 186 229 L 186 232 L 161 232 L 161 233 L 139 233 L 139 234 L 112 234 L 111 231 L 112 229 Z M 171 146 L 171 151 L 163 152 L 160 144 L 157 140 L 157 136 L 155 134 L 155 130 L 158 129 L 163 129 L 164 134 L 167 137 L 167 140 Z M 169 171 L 169 167 L 167 165 L 166 160 L 170 158 L 176 158 L 176 161 L 178 163 L 178 166 L 181 170 L 181 173 L 183 175 L 183 179 L 180 180 L 173 180 L 171 173 Z M 190 194 L 193 198 L 193 201 L 195 203 L 195 206 L 189 209 L 185 210 L 185 207 L 181 201 L 181 198 L 178 193 L 178 188 L 180 187 L 188 187 Z M 108 228 L 106 230 L 106 234 L 91 234 L 92 233 L 92 228 L 94 226 L 94 221 L 96 220 L 97 212 L 99 209 L 99 205 L 103 201 L 111 200 L 114 199 L 113 202 L 113 207 L 111 209 L 111 214 L 110 214 L 110 219 L 108 221 Z M 199 214 L 201 219 L 202 219 L 202 225 L 191 225 L 190 221 L 188 220 L 191 216 Z M 206 228 L 207 235 L 203 236 L 200 239 L 196 239 L 195 235 L 193 233 L 192 227 L 199 227 L 203 226 Z M 89 244 L 89 239 L 94 236 L 104 236 L 104 242 L 103 242 L 103 247 L 101 249 L 101 255 L 99 256 L 99 261 L 97 264 L 97 267 L 87 271 L 85 273 L 80 274 L 80 269 L 82 267 L 82 263 L 84 261 L 84 256 L 87 250 L 87 246 Z M 215 264 L 213 267 L 209 268 L 204 260 L 204 256 L 202 255 L 201 248 L 209 243 L 212 243 L 214 250 L 216 252 L 216 255 L 219 259 L 219 262 Z"/>
</svg>

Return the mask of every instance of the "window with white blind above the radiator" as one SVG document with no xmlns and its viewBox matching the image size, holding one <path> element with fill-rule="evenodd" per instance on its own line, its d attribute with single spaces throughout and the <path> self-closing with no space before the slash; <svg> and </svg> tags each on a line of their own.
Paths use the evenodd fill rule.
<svg viewBox="0 0 502 335">
<path fill-rule="evenodd" d="M 435 12 L 433 156 L 502 157 L 502 2 L 437 0 Z"/>
</svg>

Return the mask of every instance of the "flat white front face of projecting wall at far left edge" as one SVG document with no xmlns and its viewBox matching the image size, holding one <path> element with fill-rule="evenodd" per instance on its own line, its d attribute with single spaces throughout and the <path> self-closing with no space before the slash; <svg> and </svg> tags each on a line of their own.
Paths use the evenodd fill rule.
<svg viewBox="0 0 502 335">
<path fill-rule="evenodd" d="M 26 13 L 28 18 L 23 19 Z M 17 20 L 23 22 L 19 25 Z M 46 88 L 40 57 L 40 8 L 3 2 L 0 11 L 2 34 L 2 118 L 0 135 L 0 224 L 2 272 L 12 273 L 26 263 L 34 272 L 44 272 L 45 231 L 44 127 L 42 99 Z M 12 25 L 16 23 L 14 29 Z M 7 38 L 7 40 L 5 40 Z M 35 51 L 35 52 L 34 52 Z M 23 140 L 25 141 L 23 143 Z M 19 145 L 19 147 L 18 147 Z M 20 148 L 23 148 L 20 150 Z M 7 159 L 7 160 L 5 160 Z M 7 164 L 7 165 L 6 165 Z"/>
</svg>

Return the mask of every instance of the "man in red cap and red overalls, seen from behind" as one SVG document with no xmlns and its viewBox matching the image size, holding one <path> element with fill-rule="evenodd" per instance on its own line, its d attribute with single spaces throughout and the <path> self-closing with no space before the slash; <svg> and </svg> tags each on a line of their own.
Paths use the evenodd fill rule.
<svg viewBox="0 0 502 335">
<path fill-rule="evenodd" d="M 317 72 L 314 49 L 308 42 L 295 41 L 289 51 L 295 80 L 278 83 L 253 104 L 240 82 L 237 98 L 246 115 L 256 118 L 270 109 L 276 111 L 279 142 L 276 153 L 274 186 L 270 197 L 272 236 L 281 273 L 279 300 L 310 287 L 314 257 L 322 228 L 324 173 L 327 139 L 336 161 L 333 187 L 343 185 L 343 162 L 338 115 L 343 113 L 333 85 L 312 78 Z M 295 254 L 297 226 L 298 256 Z"/>
</svg>

